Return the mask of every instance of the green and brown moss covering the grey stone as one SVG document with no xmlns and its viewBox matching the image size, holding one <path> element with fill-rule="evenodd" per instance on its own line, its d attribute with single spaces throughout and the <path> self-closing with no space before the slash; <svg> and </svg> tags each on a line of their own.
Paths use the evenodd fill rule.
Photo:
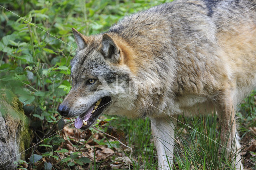
<svg viewBox="0 0 256 170">
<path fill-rule="evenodd" d="M 24 114 L 22 103 L 10 90 L 0 89 L 0 101 L 0 111 L 6 122 L 8 135 L 16 138 L 21 153 L 29 148 L 32 139 L 28 117 Z M 24 158 L 25 152 L 21 154 L 21 159 Z"/>
</svg>

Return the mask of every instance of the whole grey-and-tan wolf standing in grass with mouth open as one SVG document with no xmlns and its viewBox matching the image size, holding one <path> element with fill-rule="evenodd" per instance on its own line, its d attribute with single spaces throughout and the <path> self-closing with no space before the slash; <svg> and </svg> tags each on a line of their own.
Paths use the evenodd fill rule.
<svg viewBox="0 0 256 170">
<path fill-rule="evenodd" d="M 216 110 L 222 141 L 239 150 L 237 105 L 256 88 L 256 0 L 175 0 L 125 16 L 102 34 L 72 32 L 72 88 L 58 112 L 78 116 L 76 128 L 102 113 L 149 117 L 159 170 L 167 170 L 177 115 Z M 234 155 L 233 168 L 242 170 Z"/>
</svg>

